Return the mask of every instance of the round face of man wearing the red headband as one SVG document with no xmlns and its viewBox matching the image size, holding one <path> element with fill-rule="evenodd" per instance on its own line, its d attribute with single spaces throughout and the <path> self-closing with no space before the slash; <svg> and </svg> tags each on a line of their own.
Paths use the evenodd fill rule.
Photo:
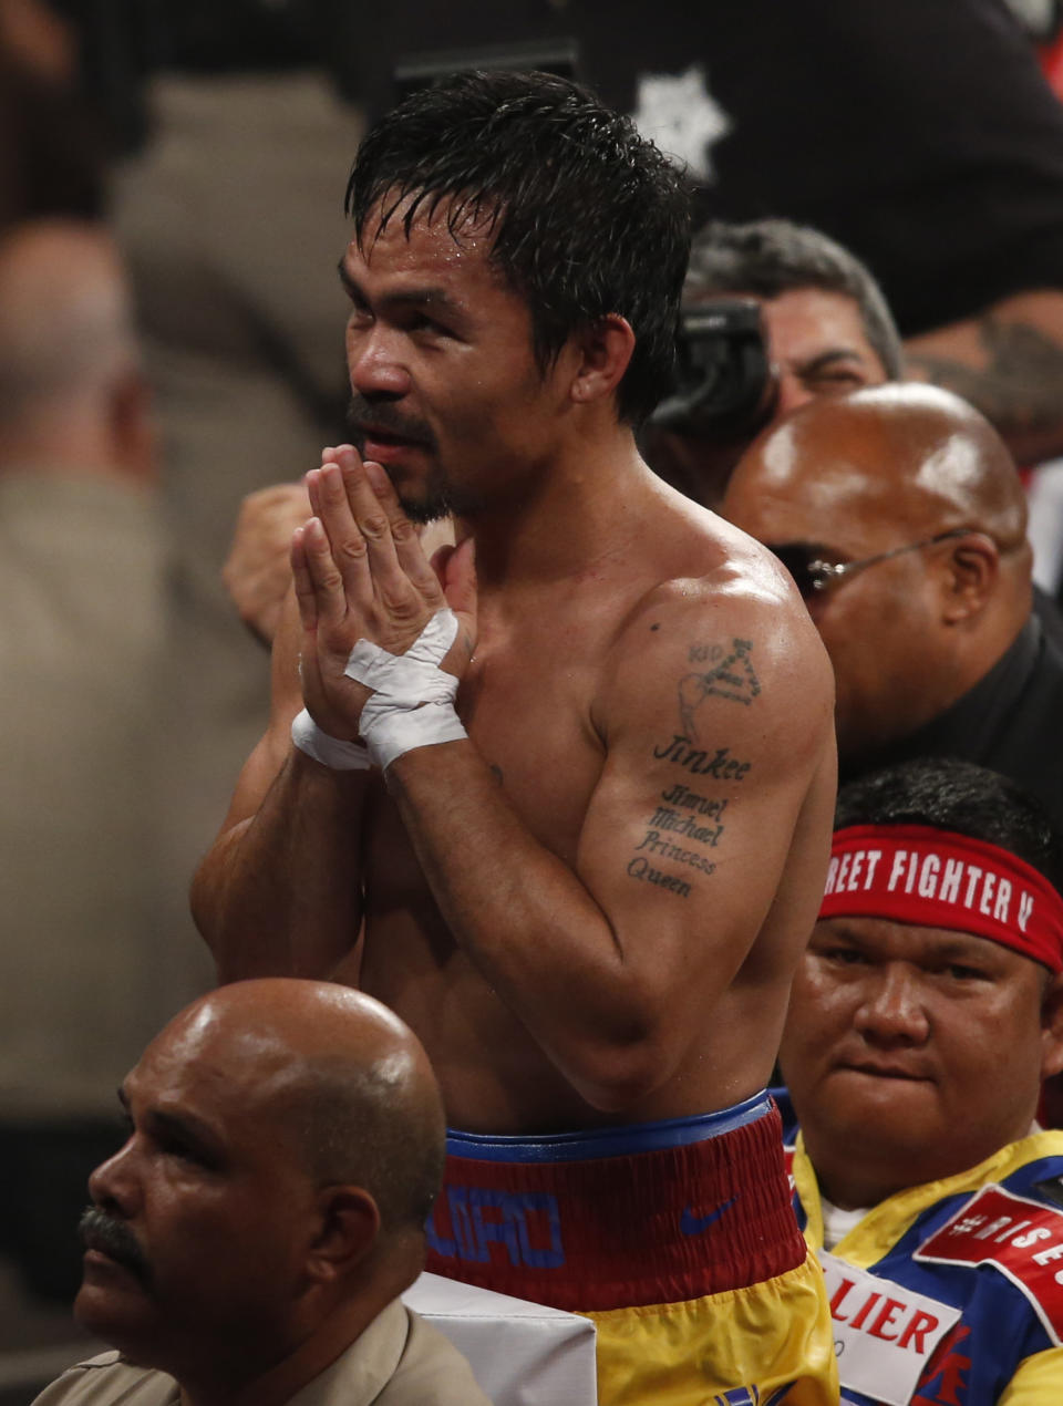
<svg viewBox="0 0 1063 1406">
<path fill-rule="evenodd" d="M 814 1164 L 952 1175 L 1029 1130 L 1063 1063 L 1057 983 L 987 938 L 879 918 L 817 922 L 780 1063 Z"/>
</svg>

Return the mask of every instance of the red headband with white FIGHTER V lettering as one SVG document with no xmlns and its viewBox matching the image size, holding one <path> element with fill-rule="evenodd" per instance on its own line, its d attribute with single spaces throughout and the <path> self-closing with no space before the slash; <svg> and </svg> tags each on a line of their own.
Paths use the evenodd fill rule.
<svg viewBox="0 0 1063 1406">
<path fill-rule="evenodd" d="M 1007 849 L 951 830 L 837 830 L 820 917 L 973 932 L 1063 972 L 1063 898 L 1048 879 Z"/>
</svg>

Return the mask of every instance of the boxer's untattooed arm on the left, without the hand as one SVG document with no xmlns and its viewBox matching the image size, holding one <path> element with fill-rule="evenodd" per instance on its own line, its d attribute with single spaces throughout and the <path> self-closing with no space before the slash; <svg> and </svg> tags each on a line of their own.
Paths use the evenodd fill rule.
<svg viewBox="0 0 1063 1406">
<path fill-rule="evenodd" d="M 221 981 L 328 977 L 359 934 L 370 773 L 330 770 L 291 745 L 302 707 L 298 641 L 292 595 L 273 647 L 269 728 L 193 880 L 193 915 Z"/>
</svg>

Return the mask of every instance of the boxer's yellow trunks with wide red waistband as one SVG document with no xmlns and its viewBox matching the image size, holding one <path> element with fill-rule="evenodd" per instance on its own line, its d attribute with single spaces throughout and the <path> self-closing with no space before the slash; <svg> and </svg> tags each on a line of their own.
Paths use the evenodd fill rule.
<svg viewBox="0 0 1063 1406">
<path fill-rule="evenodd" d="M 602 1406 L 837 1402 L 780 1132 L 766 1094 L 593 1132 L 454 1132 L 427 1268 L 593 1319 Z"/>
</svg>

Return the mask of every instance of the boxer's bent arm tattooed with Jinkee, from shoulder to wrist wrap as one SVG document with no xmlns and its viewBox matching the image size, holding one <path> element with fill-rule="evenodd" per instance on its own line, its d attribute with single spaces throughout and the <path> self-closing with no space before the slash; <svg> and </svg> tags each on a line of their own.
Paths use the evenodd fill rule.
<svg viewBox="0 0 1063 1406">
<path fill-rule="evenodd" d="M 620 641 L 575 869 L 529 832 L 471 741 L 418 748 L 388 770 L 457 942 L 578 1092 L 609 1111 L 651 1099 L 720 1019 L 813 778 L 831 766 L 830 665 L 811 626 L 782 599 L 714 595 L 668 588 Z M 803 932 L 823 891 L 831 801 L 821 865 L 793 914 Z"/>
</svg>

